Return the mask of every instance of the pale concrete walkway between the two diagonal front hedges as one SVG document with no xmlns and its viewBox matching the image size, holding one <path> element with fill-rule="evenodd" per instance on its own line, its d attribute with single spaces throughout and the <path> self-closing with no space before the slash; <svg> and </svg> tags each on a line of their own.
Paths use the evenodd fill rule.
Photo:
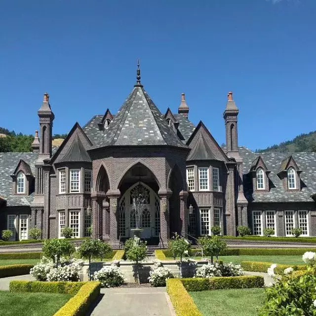
<svg viewBox="0 0 316 316">
<path fill-rule="evenodd" d="M 164 287 L 102 288 L 91 316 L 175 316 Z"/>
</svg>

